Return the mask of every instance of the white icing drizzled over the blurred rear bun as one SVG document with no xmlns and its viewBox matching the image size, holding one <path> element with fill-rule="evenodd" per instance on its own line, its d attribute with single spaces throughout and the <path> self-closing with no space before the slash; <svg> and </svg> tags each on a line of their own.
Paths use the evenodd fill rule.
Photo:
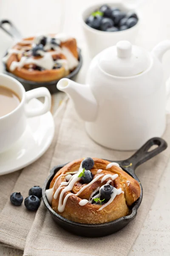
<svg viewBox="0 0 170 256">
<path fill-rule="evenodd" d="M 33 41 L 29 40 L 23 40 L 21 41 L 22 44 L 38 44 L 43 36 L 36 37 Z M 55 37 L 59 41 L 65 42 L 70 37 L 68 37 L 65 34 L 58 34 Z M 60 42 L 59 42 L 60 43 Z M 42 58 L 34 59 L 32 56 L 23 56 L 20 61 L 13 61 L 9 67 L 11 71 L 14 71 L 17 67 L 21 68 L 26 64 L 36 64 L 39 67 L 44 68 L 45 70 L 51 70 L 54 67 L 54 64 L 61 64 L 65 70 L 73 70 L 75 67 L 77 67 L 79 61 L 77 58 L 74 57 L 72 52 L 67 47 L 59 47 L 58 45 L 51 44 L 51 37 L 47 37 L 47 42 L 43 49 L 45 51 L 51 50 L 51 47 L 54 48 L 54 51 L 51 52 L 44 52 L 39 50 L 38 53 L 42 56 Z M 9 49 L 7 55 L 3 58 L 3 61 L 6 63 L 8 61 L 8 58 L 10 58 L 11 54 L 15 53 L 24 53 L 24 50 L 18 50 L 18 49 Z M 29 51 L 31 52 L 31 51 Z M 29 52 L 26 52 L 28 55 Z M 53 60 L 52 55 L 62 53 L 65 55 L 66 59 L 58 59 L 56 61 Z"/>
</svg>

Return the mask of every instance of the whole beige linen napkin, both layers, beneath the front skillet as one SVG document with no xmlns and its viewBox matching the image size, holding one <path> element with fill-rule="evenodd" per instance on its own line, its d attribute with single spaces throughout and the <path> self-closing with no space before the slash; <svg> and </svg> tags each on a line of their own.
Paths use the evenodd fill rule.
<svg viewBox="0 0 170 256">
<path fill-rule="evenodd" d="M 170 142 L 170 117 L 164 139 Z M 66 232 L 53 221 L 43 202 L 35 215 L 24 205 L 14 207 L 6 199 L 12 191 L 28 195 L 31 186 L 42 185 L 49 170 L 58 164 L 79 157 L 101 157 L 123 160 L 132 152 L 114 151 L 94 143 L 85 133 L 84 124 L 67 100 L 55 116 L 56 132 L 48 151 L 22 172 L 0 177 L 0 242 L 7 246 L 24 249 L 25 256 L 125 256 L 134 243 L 144 218 L 152 204 L 159 179 L 170 156 L 170 149 L 162 152 L 137 169 L 144 189 L 142 205 L 137 217 L 123 230 L 103 238 L 83 238 Z M 1 195 L 0 195 L 1 196 Z"/>
</svg>

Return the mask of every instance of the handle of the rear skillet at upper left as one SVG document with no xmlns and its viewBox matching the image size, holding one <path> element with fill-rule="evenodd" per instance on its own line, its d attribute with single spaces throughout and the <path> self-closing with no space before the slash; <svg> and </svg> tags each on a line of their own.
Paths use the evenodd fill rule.
<svg viewBox="0 0 170 256">
<path fill-rule="evenodd" d="M 8 24 L 8 27 L 6 26 Z M 3 29 L 6 34 L 10 35 L 14 39 L 23 38 L 17 28 L 12 24 L 10 20 L 0 20 L 0 28 Z"/>
</svg>

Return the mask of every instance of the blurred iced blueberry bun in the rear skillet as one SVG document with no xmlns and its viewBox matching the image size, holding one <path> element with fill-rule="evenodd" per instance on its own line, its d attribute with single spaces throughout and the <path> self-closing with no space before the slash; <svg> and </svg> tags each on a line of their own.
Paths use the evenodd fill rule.
<svg viewBox="0 0 170 256">
<path fill-rule="evenodd" d="M 78 65 L 77 42 L 64 34 L 24 38 L 3 58 L 15 76 L 37 82 L 58 80 Z"/>
</svg>

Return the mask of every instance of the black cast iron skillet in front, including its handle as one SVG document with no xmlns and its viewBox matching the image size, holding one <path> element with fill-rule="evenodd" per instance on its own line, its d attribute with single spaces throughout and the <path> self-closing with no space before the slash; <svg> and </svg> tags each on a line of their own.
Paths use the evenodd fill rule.
<svg viewBox="0 0 170 256">
<path fill-rule="evenodd" d="M 157 145 L 158 147 L 156 147 L 152 151 L 148 151 L 153 145 Z M 140 182 L 138 177 L 135 175 L 135 169 L 142 163 L 149 160 L 150 158 L 159 154 L 165 148 L 167 148 L 167 143 L 163 139 L 152 138 L 148 140 L 147 143 L 145 143 L 142 146 L 142 148 L 136 151 L 136 153 L 133 154 L 133 156 L 131 156 L 127 160 L 122 160 L 122 161 L 109 160 L 109 161 L 119 163 L 119 165 L 122 167 L 122 169 L 125 172 L 127 172 L 130 176 L 132 176 L 134 179 Z M 125 166 L 129 166 L 130 163 L 132 163 L 130 167 L 125 167 Z M 59 224 L 59 226 L 79 236 L 100 237 L 100 236 L 107 236 L 112 233 L 115 233 L 116 231 L 121 230 L 123 227 L 125 227 L 130 221 L 132 221 L 136 217 L 137 209 L 139 208 L 142 202 L 143 191 L 142 191 L 141 183 L 139 183 L 141 188 L 140 197 L 131 207 L 129 215 L 125 217 L 121 217 L 115 221 L 110 221 L 102 224 L 82 224 L 82 223 L 70 221 L 66 218 L 63 218 L 61 215 L 57 214 L 56 212 L 54 212 L 54 210 L 48 204 L 48 200 L 45 196 L 45 190 L 49 189 L 51 180 L 53 179 L 54 175 L 65 165 L 66 163 L 59 166 L 55 166 L 51 170 L 48 178 L 45 180 L 45 183 L 42 188 L 42 199 L 44 201 L 45 207 L 51 213 L 52 217 L 54 218 L 54 221 L 56 221 L 57 224 Z"/>
</svg>

